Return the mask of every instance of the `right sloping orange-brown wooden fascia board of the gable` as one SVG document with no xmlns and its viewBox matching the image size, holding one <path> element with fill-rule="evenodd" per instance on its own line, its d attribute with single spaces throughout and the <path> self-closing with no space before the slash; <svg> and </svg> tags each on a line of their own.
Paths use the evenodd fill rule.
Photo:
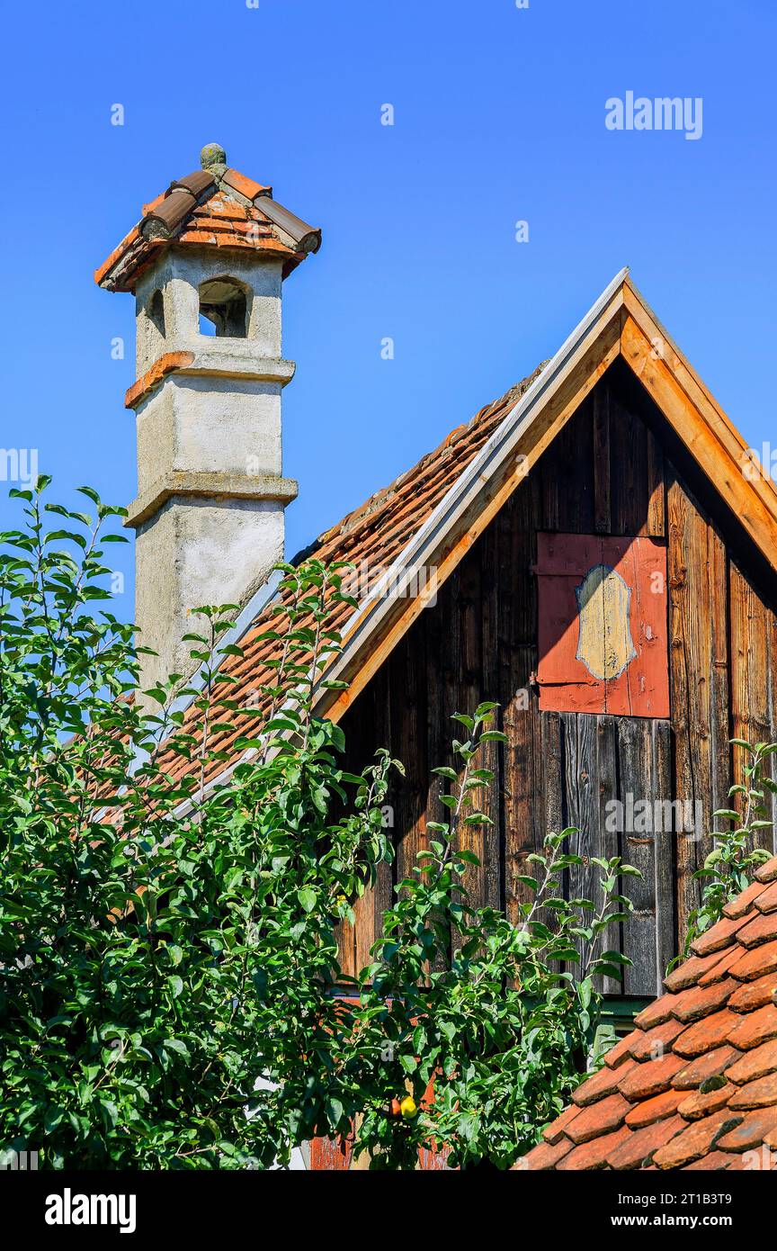
<svg viewBox="0 0 777 1251">
<path fill-rule="evenodd" d="M 657 339 L 663 343 L 657 344 Z M 772 484 L 746 459 L 742 437 L 671 340 L 663 339 L 657 323 L 632 300 L 626 304 L 621 352 L 770 567 L 777 569 L 777 494 Z M 752 478 L 745 475 L 746 464 L 752 467 Z"/>
</svg>

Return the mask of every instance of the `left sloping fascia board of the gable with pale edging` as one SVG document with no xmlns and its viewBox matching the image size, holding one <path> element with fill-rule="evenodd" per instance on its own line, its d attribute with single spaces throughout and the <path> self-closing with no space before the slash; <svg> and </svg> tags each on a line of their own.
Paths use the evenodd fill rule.
<svg viewBox="0 0 777 1251">
<path fill-rule="evenodd" d="M 433 579 L 421 580 L 418 593 L 406 599 L 386 597 L 379 583 L 346 626 L 342 651 L 322 677 L 349 686 L 341 692 L 320 687 L 317 713 L 326 713 L 331 721 L 342 717 L 620 355 L 622 279 L 618 275 L 603 293 L 600 306 L 591 310 L 596 313 L 591 323 L 586 325 L 583 319 L 395 562 L 395 569 L 407 570 L 408 583 L 422 569 L 435 569 Z"/>
</svg>

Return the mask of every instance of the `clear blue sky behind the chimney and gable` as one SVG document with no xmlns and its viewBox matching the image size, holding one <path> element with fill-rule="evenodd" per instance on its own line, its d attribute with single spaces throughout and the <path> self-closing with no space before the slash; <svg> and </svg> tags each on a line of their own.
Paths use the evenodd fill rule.
<svg viewBox="0 0 777 1251">
<path fill-rule="evenodd" d="M 551 355 L 623 264 L 777 444 L 773 0 L 86 0 L 7 6 L 4 35 L 0 444 L 37 448 L 57 498 L 135 495 L 134 300 L 92 270 L 211 140 L 324 230 L 285 286 L 290 553 Z M 628 90 L 701 96 L 702 138 L 608 131 Z"/>
</svg>

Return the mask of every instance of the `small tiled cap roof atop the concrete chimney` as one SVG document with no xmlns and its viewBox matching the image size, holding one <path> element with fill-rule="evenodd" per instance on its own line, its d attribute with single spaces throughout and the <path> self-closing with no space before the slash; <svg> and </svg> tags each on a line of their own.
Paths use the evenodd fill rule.
<svg viewBox="0 0 777 1251">
<path fill-rule="evenodd" d="M 214 145 L 211 145 L 212 148 Z M 142 205 L 141 218 L 95 271 L 110 291 L 131 291 L 142 270 L 170 244 L 249 249 L 284 260 L 284 275 L 309 251 L 321 231 L 272 199 L 262 186 L 226 165 L 221 149 L 202 149 L 207 168 L 174 179 L 166 191 Z"/>
</svg>

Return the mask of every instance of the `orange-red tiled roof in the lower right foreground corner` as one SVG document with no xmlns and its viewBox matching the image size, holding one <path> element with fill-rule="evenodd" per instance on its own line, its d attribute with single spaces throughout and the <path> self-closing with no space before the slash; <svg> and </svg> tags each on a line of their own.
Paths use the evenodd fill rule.
<svg viewBox="0 0 777 1251">
<path fill-rule="evenodd" d="M 723 912 L 518 1167 L 777 1170 L 777 857 Z"/>
</svg>

